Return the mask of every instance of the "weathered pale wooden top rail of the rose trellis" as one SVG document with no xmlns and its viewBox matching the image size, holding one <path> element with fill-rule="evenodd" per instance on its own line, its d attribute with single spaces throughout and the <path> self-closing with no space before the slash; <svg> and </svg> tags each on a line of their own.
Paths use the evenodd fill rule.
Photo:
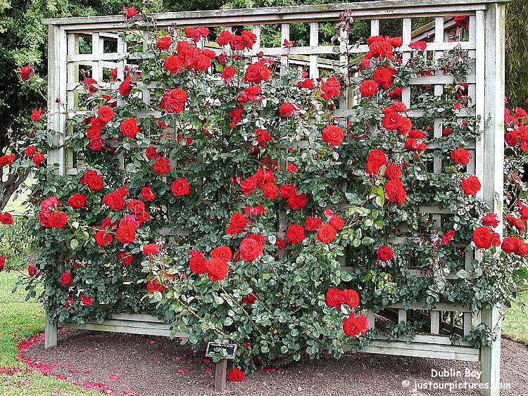
<svg viewBox="0 0 528 396">
<path fill-rule="evenodd" d="M 237 8 L 210 11 L 182 11 L 153 13 L 151 20 L 158 25 L 192 26 L 244 25 L 251 23 L 292 23 L 303 20 L 331 20 L 339 18 L 343 11 L 351 11 L 355 18 L 395 18 L 401 15 L 433 13 L 468 13 L 484 10 L 486 4 L 503 4 L 510 0 L 383 0 L 361 3 L 319 4 L 310 6 L 287 6 L 267 8 Z M 99 25 L 101 23 L 123 24 L 122 15 L 87 16 L 74 18 L 43 19 L 44 25 Z"/>
</svg>

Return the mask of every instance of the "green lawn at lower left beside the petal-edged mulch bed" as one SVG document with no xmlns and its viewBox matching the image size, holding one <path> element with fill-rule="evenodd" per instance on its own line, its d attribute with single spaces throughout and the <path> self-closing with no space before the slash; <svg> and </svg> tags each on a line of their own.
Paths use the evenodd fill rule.
<svg viewBox="0 0 528 396">
<path fill-rule="evenodd" d="M 44 331 L 44 311 L 37 300 L 25 301 L 25 290 L 11 293 L 16 280 L 17 274 L 0 273 L 0 366 L 24 369 L 25 366 L 16 360 L 17 344 L 34 333 Z M 61 396 L 100 395 L 37 371 L 27 373 L 23 370 L 13 375 L 0 373 L 2 396 L 45 396 L 58 390 Z"/>
</svg>

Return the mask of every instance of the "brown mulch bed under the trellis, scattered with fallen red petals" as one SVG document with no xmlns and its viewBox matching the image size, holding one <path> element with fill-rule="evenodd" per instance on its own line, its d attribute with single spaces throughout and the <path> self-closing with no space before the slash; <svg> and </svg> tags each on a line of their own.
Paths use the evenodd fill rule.
<svg viewBox="0 0 528 396">
<path fill-rule="evenodd" d="M 503 339 L 501 381 L 511 389 L 503 396 L 528 390 L 528 347 Z M 115 395 L 215 395 L 214 364 L 194 355 L 179 340 L 165 337 L 68 330 L 58 334 L 58 347 L 30 347 L 25 356 L 56 364 L 54 375 L 75 383 L 105 383 Z M 432 378 L 432 370 L 460 371 L 461 376 Z M 227 383 L 226 395 L 479 395 L 478 390 L 424 390 L 415 383 L 478 383 L 466 378 L 479 370 L 474 362 L 347 353 L 341 359 L 293 362 L 258 371 L 240 383 Z M 89 372 L 86 372 L 89 371 Z M 409 381 L 404 388 L 403 381 Z M 468 385 L 469 386 L 469 385 Z"/>
</svg>

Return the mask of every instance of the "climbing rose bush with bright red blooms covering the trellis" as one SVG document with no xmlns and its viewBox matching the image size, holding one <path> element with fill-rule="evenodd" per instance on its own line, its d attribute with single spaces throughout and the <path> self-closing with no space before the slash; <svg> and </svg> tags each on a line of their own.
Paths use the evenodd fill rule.
<svg viewBox="0 0 528 396">
<path fill-rule="evenodd" d="M 51 320 L 148 312 L 196 351 L 237 343 L 234 363 L 248 370 L 366 345 L 379 333 L 367 308 L 512 298 L 525 262 L 508 258 L 526 244 L 501 241 L 477 198 L 468 149 L 481 132 L 460 117 L 467 53 L 433 61 L 417 41 L 404 62 L 401 37 L 370 37 L 358 63 L 310 78 L 248 57 L 248 31 L 154 30 L 144 51 L 132 19 L 124 37 L 142 56 L 79 84 L 65 136 L 78 173 L 39 167 L 30 196 L 37 255 L 22 282 L 33 295 L 46 283 Z M 425 111 L 411 119 L 409 79 L 439 71 L 453 84 L 442 96 L 413 87 Z M 451 215 L 435 221 L 430 206 Z M 236 370 L 230 381 L 244 378 Z"/>
</svg>

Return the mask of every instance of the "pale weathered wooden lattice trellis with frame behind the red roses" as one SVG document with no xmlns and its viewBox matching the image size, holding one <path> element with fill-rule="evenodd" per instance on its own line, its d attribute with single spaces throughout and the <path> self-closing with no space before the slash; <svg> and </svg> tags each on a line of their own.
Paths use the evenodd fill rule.
<svg viewBox="0 0 528 396">
<path fill-rule="evenodd" d="M 285 66 L 298 68 L 308 67 L 310 77 L 318 77 L 320 70 L 332 70 L 334 65 L 348 60 L 346 43 L 339 45 L 322 45 L 319 38 L 320 23 L 335 21 L 343 11 L 348 11 L 354 19 L 370 20 L 370 34 L 375 36 L 380 31 L 380 21 L 386 18 L 401 18 L 403 59 L 410 58 L 408 44 L 415 39 L 424 37 L 425 30 L 412 32 L 412 18 L 434 18 L 429 24 L 427 32 L 434 36 L 427 45 L 435 59 L 442 56 L 443 51 L 459 47 L 469 51 L 474 59 L 472 71 L 467 76 L 468 92 L 474 106 L 463 109 L 460 116 L 480 116 L 484 139 L 473 141 L 468 148 L 472 153 L 472 162 L 468 172 L 474 172 L 482 181 L 483 189 L 479 191 L 479 198 L 485 200 L 491 210 L 501 218 L 501 202 L 503 196 L 503 97 L 504 97 L 504 3 L 496 0 L 388 0 L 367 1 L 348 4 L 327 4 L 321 6 L 291 6 L 275 8 L 253 8 L 222 11 L 191 11 L 181 13 L 158 13 L 149 15 L 158 27 L 225 27 L 231 29 L 239 25 L 252 25 L 257 35 L 256 44 L 250 53 L 256 57 L 262 51 L 267 56 L 279 56 Z M 451 19 L 455 15 L 468 15 L 469 39 L 467 41 L 448 41 L 446 30 L 453 26 Z M 260 26 L 266 24 L 281 25 L 281 42 L 289 39 L 291 23 L 308 23 L 308 46 L 294 46 L 291 49 L 282 47 L 266 48 L 260 42 Z M 49 103 L 51 111 L 49 128 L 58 132 L 56 143 L 60 148 L 50 151 L 49 162 L 58 164 L 61 174 L 77 174 L 74 153 L 62 146 L 66 133 L 66 119 L 68 110 L 75 108 L 77 92 L 80 87 L 79 68 L 92 69 L 92 77 L 104 89 L 110 82 L 101 83 L 104 70 L 118 69 L 118 79 L 124 77 L 125 65 L 133 63 L 134 56 L 127 55 L 124 39 L 118 32 L 125 29 L 122 15 L 61 18 L 44 20 L 49 25 Z M 80 53 L 80 37 L 89 38 L 92 45 L 91 53 Z M 145 40 L 148 35 L 145 35 Z M 431 37 L 431 36 L 429 36 Z M 430 40 L 429 40 L 430 41 Z M 115 51 L 105 52 L 105 43 L 112 43 Z M 144 45 L 148 45 L 145 41 Z M 214 49 L 214 48 L 213 48 Z M 348 45 L 348 53 L 365 53 L 365 45 Z M 219 51 L 215 49 L 215 51 Z M 339 56 L 339 60 L 320 58 L 323 54 Z M 432 84 L 434 94 L 441 95 L 445 84 L 451 84 L 453 77 L 436 74 L 435 76 L 416 77 L 410 80 L 411 85 Z M 60 98 L 58 103 L 56 98 Z M 144 94 L 145 103 L 150 101 L 149 90 Z M 411 104 L 410 87 L 403 89 L 402 101 L 408 108 Z M 347 103 L 353 98 L 344 98 L 337 110 L 338 116 L 346 117 L 350 112 Z M 422 110 L 408 111 L 410 117 L 420 117 Z M 441 120 L 434 122 L 434 136 L 442 133 Z M 437 146 L 428 146 L 434 150 Z M 441 158 L 434 160 L 434 173 L 441 172 Z M 420 207 L 424 213 L 440 224 L 442 215 L 449 212 L 439 207 Z M 282 230 L 281 230 L 282 231 Z M 498 232 L 501 233 L 499 227 Z M 389 241 L 398 243 L 398 239 Z M 478 258 L 478 257 L 477 257 Z M 472 260 L 467 255 L 466 263 Z M 420 270 L 410 270 L 413 276 L 422 276 Z M 455 274 L 449 274 L 448 279 L 454 279 Z M 395 322 L 416 318 L 417 315 L 429 324 L 429 333 L 415 336 L 412 342 L 398 339 L 386 343 L 383 336 L 379 336 L 371 346 L 365 347 L 363 352 L 382 353 L 389 355 L 407 355 L 416 357 L 436 357 L 442 359 L 460 359 L 466 361 L 480 361 L 482 364 L 482 383 L 489 384 L 484 390 L 487 395 L 498 395 L 500 337 L 496 338 L 492 347 L 482 347 L 480 350 L 472 348 L 467 343 L 452 345 L 449 335 L 453 332 L 466 336 L 474 326 L 481 323 L 500 331 L 500 315 L 496 307 L 483 309 L 482 312 L 472 312 L 467 307 L 437 304 L 423 307 L 421 304 L 404 306 L 391 305 L 386 317 L 394 317 Z M 377 317 L 372 311 L 367 312 L 370 326 L 375 326 Z M 448 317 L 451 320 L 444 320 Z M 457 319 L 458 318 L 458 319 Z M 455 326 L 455 320 L 460 321 Z M 125 333 L 142 333 L 168 336 L 170 326 L 162 321 L 145 314 L 113 314 L 103 324 L 89 323 L 80 326 L 71 322 L 66 323 L 70 328 L 84 328 L 99 331 L 117 331 Z M 456 327 L 456 329 L 455 329 Z M 184 336 L 184 334 L 177 334 Z M 46 321 L 46 347 L 56 345 L 56 326 Z"/>
</svg>

